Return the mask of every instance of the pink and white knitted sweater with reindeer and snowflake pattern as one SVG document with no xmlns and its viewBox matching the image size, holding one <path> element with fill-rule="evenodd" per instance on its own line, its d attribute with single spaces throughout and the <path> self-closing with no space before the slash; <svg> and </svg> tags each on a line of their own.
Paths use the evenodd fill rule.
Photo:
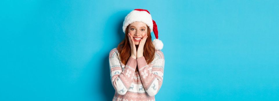
<svg viewBox="0 0 279 101">
<path fill-rule="evenodd" d="M 150 64 L 142 56 L 137 59 L 129 57 L 124 65 L 117 48 L 110 51 L 110 78 L 115 89 L 113 101 L 155 101 L 163 83 L 165 58 L 162 51 L 156 51 L 154 55 Z"/>
</svg>

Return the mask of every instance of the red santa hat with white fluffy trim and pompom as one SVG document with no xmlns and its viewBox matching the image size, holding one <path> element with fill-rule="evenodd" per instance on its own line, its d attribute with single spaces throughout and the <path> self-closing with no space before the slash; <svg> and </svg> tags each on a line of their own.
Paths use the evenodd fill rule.
<svg viewBox="0 0 279 101">
<path fill-rule="evenodd" d="M 123 32 L 125 33 L 126 27 L 134 22 L 143 22 L 150 28 L 150 33 L 154 32 L 156 39 L 153 40 L 153 44 L 155 46 L 156 50 L 163 49 L 163 42 L 158 39 L 158 29 L 157 25 L 154 20 L 152 20 L 152 17 L 150 13 L 147 10 L 144 9 L 135 9 L 131 11 L 126 17 L 123 22 Z"/>
</svg>

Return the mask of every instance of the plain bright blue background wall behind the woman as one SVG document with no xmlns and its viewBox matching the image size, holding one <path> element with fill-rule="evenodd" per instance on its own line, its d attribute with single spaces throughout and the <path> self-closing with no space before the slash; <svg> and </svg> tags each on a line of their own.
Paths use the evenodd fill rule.
<svg viewBox="0 0 279 101">
<path fill-rule="evenodd" d="M 137 8 L 149 10 L 164 43 L 156 100 L 278 100 L 278 5 L 2 0 L 0 100 L 112 100 L 109 51 L 124 38 L 124 17 Z"/>
</svg>

